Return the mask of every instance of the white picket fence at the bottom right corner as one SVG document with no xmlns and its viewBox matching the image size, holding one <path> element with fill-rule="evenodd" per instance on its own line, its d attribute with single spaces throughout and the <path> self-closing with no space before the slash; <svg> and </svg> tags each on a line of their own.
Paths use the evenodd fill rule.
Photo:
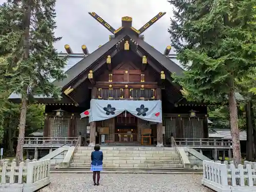
<svg viewBox="0 0 256 192">
<path fill-rule="evenodd" d="M 236 168 L 232 161 L 203 161 L 202 184 L 217 192 L 255 192 L 256 163 L 245 161 Z"/>
</svg>

